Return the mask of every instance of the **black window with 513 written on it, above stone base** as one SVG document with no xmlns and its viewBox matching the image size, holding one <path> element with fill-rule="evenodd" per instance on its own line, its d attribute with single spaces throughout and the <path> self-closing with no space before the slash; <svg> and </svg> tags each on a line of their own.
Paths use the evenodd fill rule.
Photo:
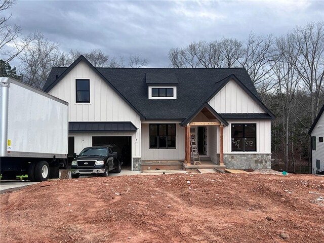
<svg viewBox="0 0 324 243">
<path fill-rule="evenodd" d="M 232 124 L 232 151 L 257 151 L 256 142 L 256 124 Z"/>
</svg>

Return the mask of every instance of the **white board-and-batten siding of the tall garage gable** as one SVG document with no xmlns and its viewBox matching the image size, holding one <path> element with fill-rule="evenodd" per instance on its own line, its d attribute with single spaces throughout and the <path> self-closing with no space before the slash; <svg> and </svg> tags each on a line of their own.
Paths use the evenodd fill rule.
<svg viewBox="0 0 324 243">
<path fill-rule="evenodd" d="M 76 79 L 90 80 L 90 103 L 76 103 Z M 69 102 L 69 121 L 131 121 L 138 128 L 136 133 L 74 134 L 76 153 L 92 146 L 92 136 L 132 136 L 132 157 L 141 157 L 140 116 L 86 63 L 79 62 L 49 94 Z"/>
</svg>

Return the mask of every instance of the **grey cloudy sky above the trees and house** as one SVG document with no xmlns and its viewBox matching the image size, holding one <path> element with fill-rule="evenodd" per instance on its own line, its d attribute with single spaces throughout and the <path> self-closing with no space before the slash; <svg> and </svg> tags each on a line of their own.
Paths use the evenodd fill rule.
<svg viewBox="0 0 324 243">
<path fill-rule="evenodd" d="M 170 48 L 222 37 L 244 41 L 324 21 L 323 0 L 18 1 L 12 24 L 41 31 L 62 51 L 100 48 L 110 56 L 139 54 L 167 67 Z"/>
</svg>

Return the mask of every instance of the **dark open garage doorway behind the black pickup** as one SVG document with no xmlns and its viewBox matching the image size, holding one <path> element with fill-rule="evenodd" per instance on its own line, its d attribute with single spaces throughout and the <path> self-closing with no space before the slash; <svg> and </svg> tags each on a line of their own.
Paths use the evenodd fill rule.
<svg viewBox="0 0 324 243">
<path fill-rule="evenodd" d="M 118 146 L 120 159 L 123 160 L 123 169 L 132 170 L 132 137 L 92 137 L 92 146 L 115 145 Z"/>
</svg>

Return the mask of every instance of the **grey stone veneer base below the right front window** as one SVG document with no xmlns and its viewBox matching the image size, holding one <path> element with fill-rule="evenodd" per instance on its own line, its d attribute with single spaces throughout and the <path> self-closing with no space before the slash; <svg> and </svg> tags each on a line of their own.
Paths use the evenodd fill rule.
<svg viewBox="0 0 324 243">
<path fill-rule="evenodd" d="M 223 161 L 227 169 L 271 169 L 271 153 L 224 154 Z"/>
</svg>

